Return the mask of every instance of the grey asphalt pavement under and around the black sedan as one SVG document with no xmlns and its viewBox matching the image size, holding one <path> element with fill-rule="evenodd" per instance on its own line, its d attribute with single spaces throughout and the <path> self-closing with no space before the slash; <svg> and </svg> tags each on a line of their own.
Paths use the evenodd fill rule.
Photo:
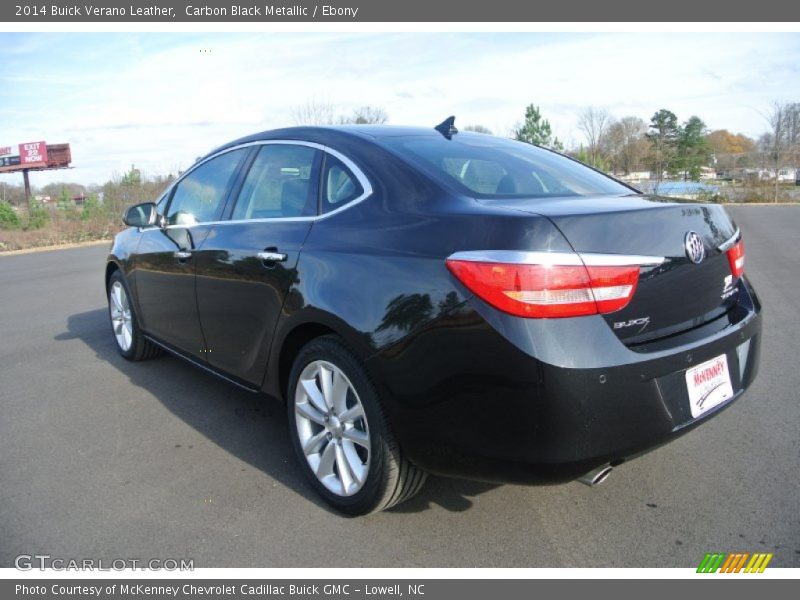
<svg viewBox="0 0 800 600">
<path fill-rule="evenodd" d="M 129 364 L 106 249 L 0 257 L 0 566 L 17 554 L 196 566 L 800 566 L 800 207 L 734 211 L 766 306 L 736 406 L 600 487 L 433 479 L 362 519 L 317 502 L 277 402 L 172 357 Z"/>
</svg>

